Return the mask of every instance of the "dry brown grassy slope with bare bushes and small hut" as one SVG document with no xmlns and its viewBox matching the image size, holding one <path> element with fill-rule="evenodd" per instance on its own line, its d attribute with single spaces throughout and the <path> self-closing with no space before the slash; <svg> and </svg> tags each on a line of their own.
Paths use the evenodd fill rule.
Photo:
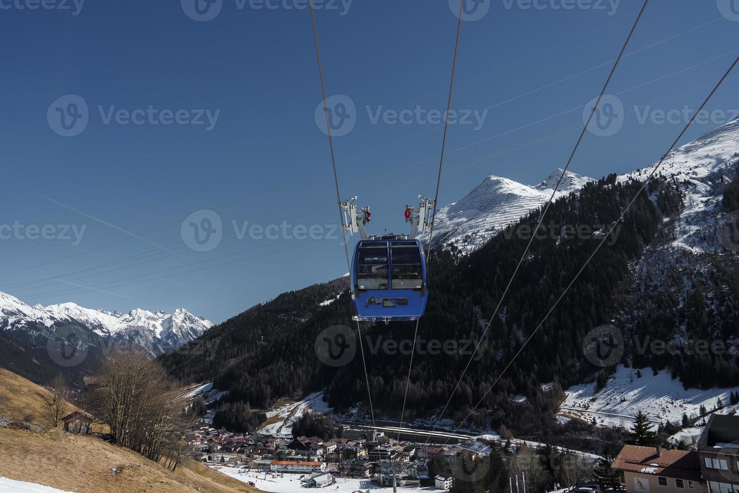
<svg viewBox="0 0 739 493">
<path fill-rule="evenodd" d="M 40 416 L 47 391 L 0 370 L 0 416 Z M 38 420 L 37 420 L 38 421 Z M 258 492 L 234 478 L 185 460 L 171 472 L 160 464 L 95 435 L 0 428 L 0 477 L 81 493 Z M 118 475 L 115 466 L 123 466 Z"/>
</svg>

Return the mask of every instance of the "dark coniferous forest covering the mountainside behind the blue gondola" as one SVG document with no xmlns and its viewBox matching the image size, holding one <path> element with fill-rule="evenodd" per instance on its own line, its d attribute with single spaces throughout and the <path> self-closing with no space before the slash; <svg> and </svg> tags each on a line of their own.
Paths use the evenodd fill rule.
<svg viewBox="0 0 739 493">
<path fill-rule="evenodd" d="M 647 335 L 670 340 L 678 328 L 694 338 L 739 336 L 736 255 L 706 252 L 699 259 L 705 269 L 691 265 L 695 258 L 679 255 L 668 266 L 660 263 L 668 255 L 664 245 L 680 221 L 686 185 L 661 175 L 638 193 L 641 185 L 618 182 L 610 175 L 554 201 L 544 224 L 556 234 L 534 239 L 486 333 L 528 243 L 528 236 L 520 232 L 536 227 L 541 211 L 522 218 L 471 255 L 460 255 L 454 247 L 435 249 L 429 259 L 429 305 L 418 327 L 420 351 L 414 356 L 404 418 L 435 416 L 452 395 L 479 343 L 443 418 L 461 421 L 480 402 L 469 418 L 470 427 L 504 425 L 517 435 L 541 432 L 551 424 L 563 388 L 588 379 L 602 385 L 615 370 L 615 366 L 590 364 L 581 349 L 585 334 L 607 323 L 624 334 L 621 364 L 669 368 L 686 386 L 735 382 L 739 374 L 729 356 L 655 354 L 643 351 L 639 343 Z M 723 210 L 738 210 L 739 180 L 721 186 L 726 191 Z M 618 235 L 594 255 L 601 236 L 564 239 L 560 235 L 564 225 L 613 224 L 634 197 L 621 227 L 614 230 Z M 579 272 L 591 255 L 588 266 Z M 571 289 L 562 296 L 571 282 Z M 349 410 L 367 402 L 359 349 L 347 365 L 334 368 L 320 361 L 314 346 L 321 331 L 333 325 L 346 325 L 357 334 L 347 288 L 346 280 L 339 279 L 282 294 L 208 331 L 204 338 L 219 338 L 216 354 L 188 354 L 185 348 L 160 360 L 185 381 L 214 381 L 217 388 L 228 390 L 225 399 L 230 402 L 262 409 L 282 396 L 299 397 L 325 389 L 331 406 Z M 684 296 L 676 297 L 675 290 Z M 319 305 L 339 294 L 335 302 Z M 412 339 L 415 323 L 363 323 L 361 328 L 375 412 L 398 416 L 409 354 L 387 351 L 382 343 Z M 531 334 L 534 337 L 523 347 Z M 423 351 L 432 347 L 432 341 L 446 349 L 440 354 Z M 511 399 L 522 393 L 528 404 Z"/>
</svg>

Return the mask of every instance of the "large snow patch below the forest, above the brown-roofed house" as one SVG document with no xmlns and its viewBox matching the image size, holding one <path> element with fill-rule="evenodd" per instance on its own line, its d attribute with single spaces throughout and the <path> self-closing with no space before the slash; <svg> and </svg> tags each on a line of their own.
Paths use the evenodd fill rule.
<svg viewBox="0 0 739 493">
<path fill-rule="evenodd" d="M 616 374 L 597 393 L 595 383 L 565 390 L 567 399 L 560 412 L 585 421 L 595 418 L 597 424 L 603 426 L 630 427 L 633 416 L 639 411 L 653 422 L 670 420 L 679 424 L 683 413 L 698 415 L 701 405 L 712 410 L 719 398 L 726 406 L 722 413 L 728 413 L 729 394 L 736 390 L 739 387 L 685 390 L 679 380 L 672 380 L 669 370 L 653 375 L 652 370 L 646 368 L 641 370 L 641 378 L 637 378 L 635 369 L 619 365 Z"/>
</svg>

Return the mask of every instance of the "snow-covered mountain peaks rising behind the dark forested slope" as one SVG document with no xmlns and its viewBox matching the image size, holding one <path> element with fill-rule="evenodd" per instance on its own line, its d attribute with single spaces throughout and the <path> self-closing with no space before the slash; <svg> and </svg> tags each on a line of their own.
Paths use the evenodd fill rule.
<svg viewBox="0 0 739 493">
<path fill-rule="evenodd" d="M 685 221 L 676 244 L 687 249 L 704 247 L 698 237 L 704 235 L 706 221 L 717 220 L 713 211 L 721 200 L 721 176 L 733 178 L 730 168 L 735 167 L 738 156 L 739 120 L 721 125 L 667 155 L 658 174 L 689 184 Z M 644 180 L 655 165 L 625 173 L 619 181 Z M 545 204 L 561 175 L 562 169 L 556 169 L 537 185 L 488 176 L 462 199 L 437 211 L 434 244 L 455 244 L 464 253 L 481 247 L 508 224 Z M 576 192 L 590 181 L 593 179 L 588 176 L 567 171 L 555 198 Z M 428 241 L 428 234 L 421 239 Z"/>
</svg>

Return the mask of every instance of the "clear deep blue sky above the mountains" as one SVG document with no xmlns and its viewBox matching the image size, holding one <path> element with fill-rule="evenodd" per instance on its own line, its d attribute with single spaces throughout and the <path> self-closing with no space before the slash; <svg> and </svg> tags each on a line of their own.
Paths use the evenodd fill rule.
<svg viewBox="0 0 739 493">
<path fill-rule="evenodd" d="M 321 92 L 310 13 L 304 0 L 273 0 L 276 8 L 255 1 L 239 8 L 241 0 L 222 0 L 210 21 L 189 17 L 197 14 L 188 0 L 88 0 L 81 9 L 79 0 L 45 0 L 69 10 L 0 1 L 0 224 L 17 226 L 0 241 L 0 291 L 31 304 L 183 306 L 219 322 L 346 272 L 336 240 L 234 238 L 232 221 L 311 227 L 338 218 L 327 139 L 315 119 Z M 356 106 L 353 130 L 335 139 L 341 193 L 372 207 L 375 231 L 405 230 L 405 204 L 434 193 L 441 128 L 415 116 L 410 124 L 372 118 L 446 107 L 457 28 L 447 3 L 355 0 L 347 9 L 336 1 L 336 9 L 317 11 L 328 94 L 346 94 Z M 609 1 L 602 9 L 554 8 L 563 3 L 525 9 L 525 0 L 491 0 L 483 18 L 463 23 L 452 106 L 489 109 L 482 125 L 449 128 L 441 204 L 489 174 L 536 183 L 565 164 L 582 108 L 605 82 L 641 1 L 621 0 L 615 11 Z M 627 53 L 664 43 L 624 58 L 609 92 L 620 93 L 627 111 L 697 108 L 739 49 L 739 21 L 722 16 L 720 5 L 652 0 Z M 739 108 L 738 81 L 729 79 L 709 109 Z M 59 134 L 58 111 L 75 123 L 70 115 L 84 108 L 69 106 L 79 99 L 54 103 L 67 94 L 88 106 L 74 137 Z M 158 120 L 106 120 L 149 106 Z M 205 124 L 176 123 L 177 111 L 181 122 Z M 681 124 L 652 120 L 640 123 L 631 112 L 615 135 L 587 134 L 571 169 L 600 177 L 654 162 Z M 689 138 L 714 126 L 697 125 Z M 222 241 L 206 252 L 181 239 L 183 220 L 198 210 L 216 211 L 223 224 Z M 64 224 L 86 226 L 80 244 L 27 238 L 29 225 L 50 225 L 52 238 Z M 194 272 L 172 276 L 186 271 Z"/>
</svg>

